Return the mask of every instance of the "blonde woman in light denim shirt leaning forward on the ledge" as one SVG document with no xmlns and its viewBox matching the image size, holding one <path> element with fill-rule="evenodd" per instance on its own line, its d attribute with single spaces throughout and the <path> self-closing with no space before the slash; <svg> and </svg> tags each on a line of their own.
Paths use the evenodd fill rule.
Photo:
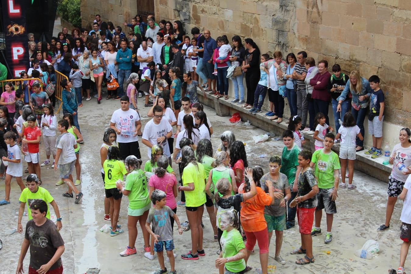
<svg viewBox="0 0 411 274">
<path fill-rule="evenodd" d="M 337 111 L 341 111 L 341 104 L 348 96 L 348 92 L 351 92 L 353 97 L 351 101 L 351 114 L 354 116 L 360 132 L 364 136 L 364 120 L 372 90 L 367 79 L 361 77 L 360 72 L 357 70 L 350 73 L 350 78 L 344 90 L 341 92 L 341 96 L 337 98 Z M 356 145 L 357 152 L 364 150 L 364 140 L 360 140 L 360 138 L 357 137 Z"/>
</svg>

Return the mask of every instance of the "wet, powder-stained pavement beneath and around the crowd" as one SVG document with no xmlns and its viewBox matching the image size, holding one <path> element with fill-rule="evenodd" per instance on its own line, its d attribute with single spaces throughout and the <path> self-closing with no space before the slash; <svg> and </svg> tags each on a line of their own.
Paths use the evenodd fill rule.
<svg viewBox="0 0 411 274">
<path fill-rule="evenodd" d="M 103 98 L 105 94 L 103 94 Z M 79 189 L 84 193 L 81 204 L 74 204 L 74 198 L 65 198 L 61 194 L 65 192 L 66 186 L 63 184 L 55 186 L 58 181 L 58 172 L 51 169 L 51 165 L 42 167 L 42 187 L 46 188 L 57 202 L 62 216 L 61 235 L 65 241 L 65 253 L 62 256 L 64 273 L 86 273 L 89 268 L 97 267 L 100 273 L 152 273 L 159 268 L 157 258 L 148 260 L 143 256 L 143 239 L 139 228 L 136 249 L 137 254 L 129 257 L 120 257 L 119 253 L 128 244 L 127 235 L 127 204 L 128 200 L 123 196 L 120 210 L 121 218 L 119 224 L 125 233 L 116 237 L 110 237 L 107 233 L 99 232 L 99 228 L 108 221 L 104 221 L 104 186 L 100 173 L 99 149 L 102 143 L 104 129 L 109 126 L 111 114 L 120 108 L 120 101 L 102 100 L 98 105 L 97 100 L 83 101 L 84 106 L 79 108 L 79 123 L 81 133 L 85 143 L 80 149 L 81 180 Z M 139 99 L 141 120 L 143 127 L 150 120 L 147 117 L 149 108 L 144 108 L 143 100 Z M 219 135 L 225 130 L 232 130 L 236 134 L 237 140 L 246 143 L 247 159 L 250 166 L 260 165 L 265 172 L 268 172 L 268 159 L 271 155 L 281 154 L 282 141 L 274 141 L 273 138 L 254 144 L 252 136 L 264 134 L 265 131 L 245 125 L 244 122 L 231 124 L 229 117 L 219 117 L 215 115 L 212 108 L 205 107 L 205 112 L 210 119 L 214 134 L 212 144 L 214 150 L 221 142 Z M 62 113 L 60 112 L 60 117 Z M 175 129 L 174 129 L 175 132 Z M 58 134 L 58 133 L 57 133 Z M 139 141 L 140 151 L 143 156 L 143 163 L 147 160 L 146 147 Z M 265 158 L 260 158 L 261 154 L 268 154 Z M 45 159 L 44 146 L 40 145 L 40 158 Z M 27 166 L 23 162 L 24 168 Z M 177 165 L 173 168 L 178 173 Z M 74 175 L 75 173 L 73 173 Z M 26 176 L 26 175 L 23 175 Z M 289 252 L 300 246 L 300 235 L 298 226 L 284 232 L 284 242 L 281 255 L 287 261 L 286 265 L 280 265 L 274 260 L 275 241 L 271 241 L 269 265 L 275 265 L 276 269 L 271 269 L 269 273 L 386 273 L 390 267 L 395 269 L 399 263 L 399 247 L 402 241 L 399 239 L 399 216 L 402 209 L 402 201 L 395 206 L 391 228 L 383 233 L 378 233 L 378 228 L 385 218 L 385 207 L 387 201 L 387 184 L 368 177 L 359 172 L 354 174 L 354 184 L 358 186 L 356 190 L 348 191 L 339 189 L 337 199 L 337 214 L 335 214 L 332 228 L 333 241 L 331 244 L 324 244 L 325 233 L 313 237 L 313 251 L 316 262 L 303 267 L 297 266 L 294 261 L 298 256 L 290 255 Z M 4 193 L 4 181 L 0 181 L 0 193 Z M 18 197 L 20 190 L 15 180 L 12 180 L 11 204 L 0 206 L 0 238 L 3 247 L 0 250 L 0 273 L 9 274 L 16 270 L 18 257 L 21 249 L 21 242 L 24 235 L 13 233 L 6 235 L 5 230 L 17 227 L 17 212 L 19 208 Z M 177 199 L 180 198 L 180 194 Z M 52 213 L 53 208 L 50 207 Z M 177 210 L 180 222 L 187 220 L 183 207 Z M 23 216 L 23 228 L 25 228 L 27 217 Z M 182 260 L 180 254 L 186 253 L 191 248 L 190 233 L 183 235 L 175 233 L 175 269 L 178 273 L 218 273 L 215 269 L 215 259 L 218 243 L 213 240 L 213 233 L 210 226 L 208 214 L 205 211 L 203 216 L 204 249 L 206 256 L 199 260 Z M 138 225 L 139 226 L 139 225 Z M 175 227 L 176 228 L 176 227 Z M 326 231 L 325 214 L 322 221 L 322 229 Z M 367 239 L 374 239 L 380 243 L 378 257 L 372 260 L 360 259 L 354 255 L 357 249 L 365 243 Z M 327 254 L 330 251 L 330 254 Z M 255 253 L 250 256 L 248 265 L 253 267 L 249 273 L 254 273 L 254 269 L 259 268 L 259 248 L 255 247 Z M 24 261 L 27 273 L 30 254 L 26 255 Z M 166 267 L 170 269 L 169 262 Z"/>
</svg>

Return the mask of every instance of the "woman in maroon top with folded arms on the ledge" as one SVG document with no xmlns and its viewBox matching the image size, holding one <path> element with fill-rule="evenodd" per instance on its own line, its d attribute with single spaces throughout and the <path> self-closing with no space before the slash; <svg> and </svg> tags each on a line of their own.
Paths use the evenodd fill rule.
<svg viewBox="0 0 411 274">
<path fill-rule="evenodd" d="M 327 69 L 327 60 L 319 61 L 318 73 L 309 81 L 309 83 L 313 87 L 311 98 L 314 99 L 315 113 L 324 113 L 324 115 L 326 115 L 326 123 L 330 124 L 330 120 L 328 119 L 328 107 L 330 106 L 331 94 L 327 87 L 328 82 L 330 82 L 331 74 Z"/>
</svg>

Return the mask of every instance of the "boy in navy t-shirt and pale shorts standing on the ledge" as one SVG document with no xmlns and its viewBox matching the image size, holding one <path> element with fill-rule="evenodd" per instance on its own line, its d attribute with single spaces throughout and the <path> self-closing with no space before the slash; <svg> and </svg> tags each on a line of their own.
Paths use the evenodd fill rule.
<svg viewBox="0 0 411 274">
<path fill-rule="evenodd" d="M 368 132 L 372 135 L 372 148 L 364 152 L 371 155 L 372 159 L 382 155 L 381 144 L 383 142 L 383 121 L 384 121 L 384 92 L 380 88 L 380 78 L 376 75 L 368 79 L 372 88 L 369 98 Z"/>
</svg>

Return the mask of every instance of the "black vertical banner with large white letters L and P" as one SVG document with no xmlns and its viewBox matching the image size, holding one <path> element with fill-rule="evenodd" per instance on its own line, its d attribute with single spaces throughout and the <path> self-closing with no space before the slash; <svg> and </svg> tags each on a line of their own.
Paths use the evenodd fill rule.
<svg viewBox="0 0 411 274">
<path fill-rule="evenodd" d="M 29 68 L 28 39 L 24 0 L 2 0 L 2 17 L 5 28 L 6 60 L 12 76 L 20 76 Z M 40 16 L 41 17 L 41 16 Z"/>
</svg>

